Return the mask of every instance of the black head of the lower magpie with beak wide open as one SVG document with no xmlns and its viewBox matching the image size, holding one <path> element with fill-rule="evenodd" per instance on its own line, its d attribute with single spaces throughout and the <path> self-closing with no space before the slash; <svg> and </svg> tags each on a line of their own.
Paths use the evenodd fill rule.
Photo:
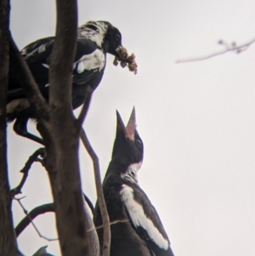
<svg viewBox="0 0 255 256">
<path fill-rule="evenodd" d="M 116 139 L 113 145 L 112 160 L 128 168 L 130 165 L 140 167 L 143 162 L 144 145 L 136 129 L 135 110 L 131 113 L 127 126 L 116 111 Z"/>
</svg>

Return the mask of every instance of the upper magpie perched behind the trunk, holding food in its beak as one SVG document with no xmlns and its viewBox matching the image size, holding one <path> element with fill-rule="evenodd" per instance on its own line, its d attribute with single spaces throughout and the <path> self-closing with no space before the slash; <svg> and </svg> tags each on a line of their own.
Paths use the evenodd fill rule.
<svg viewBox="0 0 255 256">
<path fill-rule="evenodd" d="M 21 50 L 33 77 L 42 93 L 48 100 L 49 56 L 54 44 L 54 37 L 47 37 L 29 44 Z M 121 62 L 122 67 L 128 64 L 130 71 L 137 72 L 134 55 L 128 56 L 127 49 L 122 47 L 122 34 L 107 21 L 88 21 L 77 31 L 77 52 L 73 63 L 72 107 L 76 109 L 83 104 L 88 85 L 94 90 L 101 81 L 106 63 L 106 54 L 116 58 L 114 64 Z M 10 66 L 8 81 L 7 120 L 14 121 L 14 131 L 21 136 L 42 143 L 42 139 L 30 134 L 26 125 L 29 118 L 36 119 L 35 110 L 20 87 L 14 71 Z"/>
</svg>

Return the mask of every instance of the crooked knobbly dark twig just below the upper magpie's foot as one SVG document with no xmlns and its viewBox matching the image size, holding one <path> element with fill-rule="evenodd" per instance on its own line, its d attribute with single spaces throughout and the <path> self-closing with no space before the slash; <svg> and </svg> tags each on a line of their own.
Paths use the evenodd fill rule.
<svg viewBox="0 0 255 256">
<path fill-rule="evenodd" d="M 11 190 L 11 195 L 12 196 L 15 196 L 17 194 L 20 194 L 21 193 L 21 190 L 22 190 L 22 187 L 23 185 L 25 184 L 26 182 L 26 178 L 28 176 L 28 172 L 31 168 L 31 165 L 33 164 L 33 162 L 36 162 L 37 161 L 37 157 L 38 156 L 43 156 L 44 155 L 44 148 L 40 148 L 38 149 L 37 151 L 35 151 L 27 160 L 24 168 L 22 168 L 20 170 L 20 173 L 23 173 L 23 177 L 22 179 L 20 180 L 20 184 L 15 187 L 13 190 Z"/>
</svg>

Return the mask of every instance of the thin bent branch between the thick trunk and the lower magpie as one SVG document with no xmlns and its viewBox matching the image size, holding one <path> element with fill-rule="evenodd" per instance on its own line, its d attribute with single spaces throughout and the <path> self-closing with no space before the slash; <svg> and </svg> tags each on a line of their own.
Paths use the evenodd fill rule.
<svg viewBox="0 0 255 256">
<path fill-rule="evenodd" d="M 111 229 L 110 229 L 110 220 L 109 220 L 109 216 L 108 216 L 108 212 L 105 204 L 105 197 L 104 197 L 102 184 L 101 184 L 99 158 L 94 152 L 93 147 L 90 145 L 88 141 L 88 137 L 83 128 L 81 130 L 81 139 L 84 147 L 88 151 L 88 155 L 91 157 L 94 164 L 94 179 L 95 179 L 99 208 L 102 215 L 103 229 L 104 229 L 104 246 L 103 246 L 102 256 L 109 256 L 110 248 L 111 248 Z"/>
</svg>

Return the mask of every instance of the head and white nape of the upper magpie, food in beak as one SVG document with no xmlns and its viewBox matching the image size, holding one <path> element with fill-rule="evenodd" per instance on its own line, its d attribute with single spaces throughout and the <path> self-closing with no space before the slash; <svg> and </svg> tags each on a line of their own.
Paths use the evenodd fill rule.
<svg viewBox="0 0 255 256">
<path fill-rule="evenodd" d="M 94 41 L 105 53 L 115 56 L 114 65 L 121 62 L 122 67 L 128 66 L 130 71 L 137 73 L 134 54 L 128 55 L 122 46 L 122 33 L 108 21 L 88 21 L 78 28 L 78 37 Z"/>
</svg>

